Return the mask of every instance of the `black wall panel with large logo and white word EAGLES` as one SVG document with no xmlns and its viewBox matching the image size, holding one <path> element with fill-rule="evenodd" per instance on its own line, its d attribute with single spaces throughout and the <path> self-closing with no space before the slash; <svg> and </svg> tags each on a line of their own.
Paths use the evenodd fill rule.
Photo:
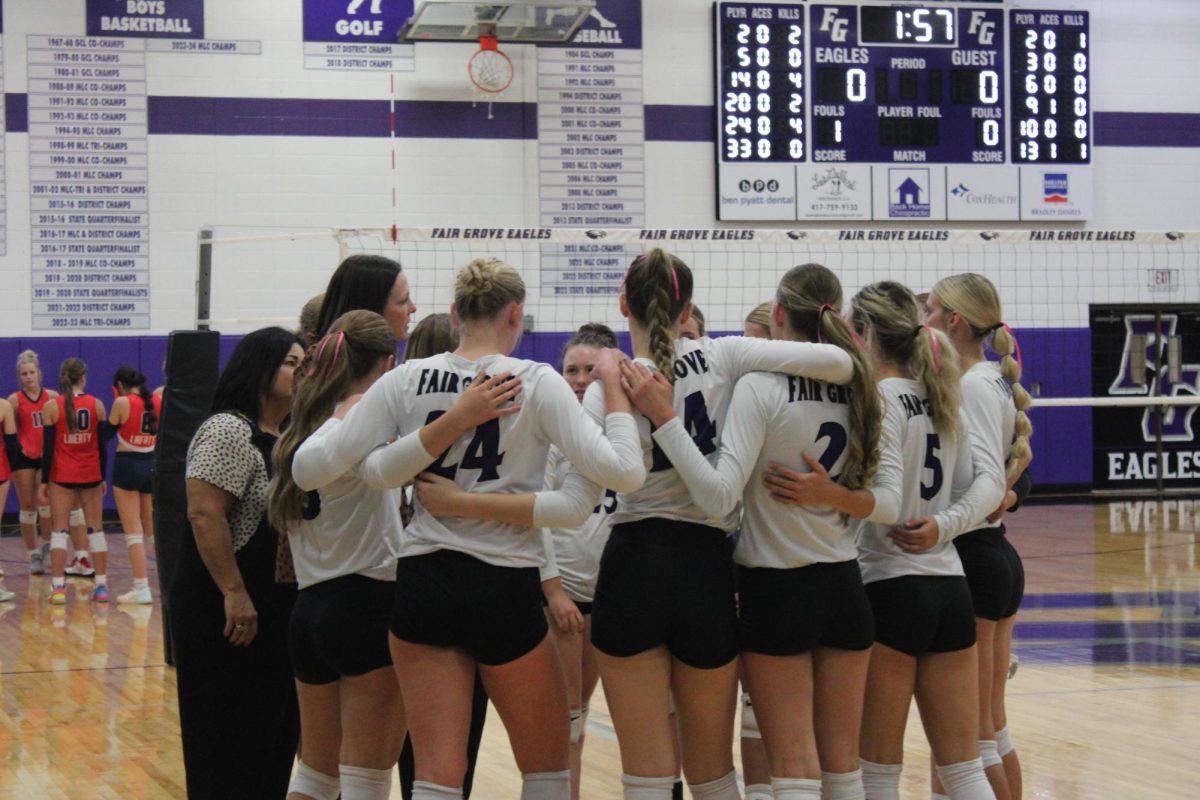
<svg viewBox="0 0 1200 800">
<path fill-rule="evenodd" d="M 1093 396 L 1200 396 L 1200 307 L 1093 306 L 1091 330 Z M 1093 488 L 1154 488 L 1159 477 L 1164 488 L 1195 488 L 1195 413 L 1188 405 L 1162 413 L 1156 407 L 1094 409 Z"/>
</svg>

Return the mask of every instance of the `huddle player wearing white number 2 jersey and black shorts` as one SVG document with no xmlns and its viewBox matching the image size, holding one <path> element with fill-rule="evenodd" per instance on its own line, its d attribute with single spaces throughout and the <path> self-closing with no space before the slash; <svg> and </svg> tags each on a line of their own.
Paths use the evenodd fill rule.
<svg viewBox="0 0 1200 800">
<path fill-rule="evenodd" d="M 853 530 L 830 509 L 773 500 L 762 482 L 769 463 L 806 469 L 804 453 L 820 457 L 850 488 L 875 473 L 880 401 L 866 355 L 836 312 L 841 300 L 841 284 L 824 266 L 805 264 L 784 276 L 772 338 L 835 344 L 853 359 L 853 378 L 838 385 L 744 375 L 715 464 L 679 423 L 661 374 L 635 395 L 658 426 L 654 440 L 706 515 L 724 518 L 745 500 L 734 561 L 743 680 L 755 710 L 743 715 L 757 721 L 769 760 L 769 786 L 750 783 L 748 771 L 748 798 L 820 799 L 822 778 L 826 798 L 862 796 L 858 734 L 874 630 Z M 636 375 L 630 383 L 644 385 Z M 746 733 L 744 724 L 743 740 L 756 739 Z"/>
</svg>

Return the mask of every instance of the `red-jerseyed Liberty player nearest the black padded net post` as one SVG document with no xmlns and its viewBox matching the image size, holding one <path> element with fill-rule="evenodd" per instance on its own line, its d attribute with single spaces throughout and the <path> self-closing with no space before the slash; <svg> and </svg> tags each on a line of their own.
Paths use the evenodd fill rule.
<svg viewBox="0 0 1200 800">
<path fill-rule="evenodd" d="M 149 604 L 146 537 L 154 539 L 154 447 L 162 419 L 162 396 L 151 395 L 146 377 L 133 367 L 113 374 L 113 410 L 108 422 L 116 432 L 113 458 L 113 499 L 125 531 L 133 588 L 116 597 L 119 603 Z"/>
</svg>

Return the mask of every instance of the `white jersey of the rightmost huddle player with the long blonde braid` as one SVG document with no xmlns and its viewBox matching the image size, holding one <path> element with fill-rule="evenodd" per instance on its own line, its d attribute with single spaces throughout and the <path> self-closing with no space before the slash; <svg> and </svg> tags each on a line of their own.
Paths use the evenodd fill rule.
<svg viewBox="0 0 1200 800">
<path fill-rule="evenodd" d="M 1003 475 L 1016 431 L 1016 404 L 1013 385 L 1001 374 L 998 363 L 980 361 L 962 374 L 962 408 L 971 426 L 972 457 Z M 986 519 L 994 510 L 976 519 L 971 530 L 998 528 L 1001 523 Z"/>
</svg>

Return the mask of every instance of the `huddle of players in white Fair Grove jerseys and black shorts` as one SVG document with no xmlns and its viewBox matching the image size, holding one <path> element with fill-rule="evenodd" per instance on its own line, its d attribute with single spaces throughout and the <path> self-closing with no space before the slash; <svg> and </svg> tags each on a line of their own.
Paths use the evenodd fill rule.
<svg viewBox="0 0 1200 800">
<path fill-rule="evenodd" d="M 766 748 L 748 799 L 899 798 L 913 697 L 935 798 L 1020 795 L 1003 686 L 1024 577 L 1001 518 L 1031 427 L 995 288 L 950 276 L 922 307 L 884 281 L 844 315 L 806 264 L 770 341 L 685 337 L 691 300 L 680 259 L 638 257 L 634 359 L 586 325 L 564 379 L 510 355 L 524 285 L 478 259 L 456 350 L 394 367 L 365 311 L 312 344 L 269 505 L 300 587 L 289 796 L 386 798 L 407 729 L 413 796 L 462 798 L 476 670 L 522 800 L 578 796 L 596 674 L 628 800 L 682 796 L 677 741 L 692 798 L 742 796 L 739 676 Z M 330 687 L 366 675 L 361 728 L 342 712 L 329 745 Z"/>
</svg>

